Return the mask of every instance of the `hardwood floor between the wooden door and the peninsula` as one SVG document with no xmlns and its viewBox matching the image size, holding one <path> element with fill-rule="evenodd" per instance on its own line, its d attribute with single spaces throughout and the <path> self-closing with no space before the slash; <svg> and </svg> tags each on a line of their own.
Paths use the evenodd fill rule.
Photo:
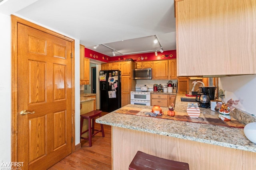
<svg viewBox="0 0 256 170">
<path fill-rule="evenodd" d="M 102 137 L 101 132 L 93 136 L 92 147 L 89 147 L 89 141 L 81 141 L 81 149 L 68 155 L 49 170 L 111 170 L 111 126 L 103 126 L 105 137 Z M 100 124 L 95 123 L 95 129 L 100 129 Z"/>
</svg>

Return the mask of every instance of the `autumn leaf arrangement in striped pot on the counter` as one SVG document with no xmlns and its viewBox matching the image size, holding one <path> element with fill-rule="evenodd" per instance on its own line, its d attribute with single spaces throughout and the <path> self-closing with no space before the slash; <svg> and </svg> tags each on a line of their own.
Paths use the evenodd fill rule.
<svg viewBox="0 0 256 170">
<path fill-rule="evenodd" d="M 239 100 L 230 99 L 226 104 L 217 103 L 217 107 L 220 109 L 218 117 L 223 121 L 230 121 L 231 117 L 229 115 L 229 111 L 234 110 L 235 108 L 233 107 L 233 105 L 238 105 L 238 102 Z"/>
</svg>

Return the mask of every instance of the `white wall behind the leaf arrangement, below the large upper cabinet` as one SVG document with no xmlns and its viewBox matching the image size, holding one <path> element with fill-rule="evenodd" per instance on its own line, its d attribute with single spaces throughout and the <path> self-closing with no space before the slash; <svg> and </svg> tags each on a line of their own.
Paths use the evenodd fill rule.
<svg viewBox="0 0 256 170">
<path fill-rule="evenodd" d="M 256 75 L 232 76 L 219 78 L 219 88 L 226 90 L 227 102 L 230 98 L 240 100 L 237 108 L 256 115 Z"/>
</svg>

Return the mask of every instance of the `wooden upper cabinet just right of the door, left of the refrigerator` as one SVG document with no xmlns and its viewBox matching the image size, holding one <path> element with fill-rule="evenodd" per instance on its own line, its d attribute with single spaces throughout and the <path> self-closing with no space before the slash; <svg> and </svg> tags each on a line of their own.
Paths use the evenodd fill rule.
<svg viewBox="0 0 256 170">
<path fill-rule="evenodd" d="M 84 57 L 84 45 L 80 44 L 80 85 L 90 84 L 90 59 Z"/>
</svg>

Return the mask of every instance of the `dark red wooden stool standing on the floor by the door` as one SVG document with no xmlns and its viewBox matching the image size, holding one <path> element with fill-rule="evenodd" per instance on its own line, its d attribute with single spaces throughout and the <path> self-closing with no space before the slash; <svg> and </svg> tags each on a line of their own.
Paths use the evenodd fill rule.
<svg viewBox="0 0 256 170">
<path fill-rule="evenodd" d="M 80 117 L 81 117 L 81 120 L 80 120 L 80 139 L 88 140 L 89 141 L 89 147 L 92 146 L 92 137 L 94 135 L 96 135 L 97 133 L 102 132 L 102 137 L 105 137 L 104 129 L 103 129 L 102 124 L 100 124 L 100 127 L 101 127 L 100 130 L 94 129 L 95 118 L 98 117 L 98 116 L 101 117 L 101 112 L 102 111 L 100 111 L 100 110 L 93 110 L 93 111 L 90 111 L 88 113 L 80 115 Z M 86 131 L 82 131 L 84 119 L 88 120 L 88 129 Z M 91 120 L 92 120 L 92 125 L 91 125 Z M 88 131 L 89 131 L 88 138 L 82 137 L 82 134 L 84 134 Z M 94 133 L 94 131 L 96 131 L 96 132 Z"/>
</svg>

